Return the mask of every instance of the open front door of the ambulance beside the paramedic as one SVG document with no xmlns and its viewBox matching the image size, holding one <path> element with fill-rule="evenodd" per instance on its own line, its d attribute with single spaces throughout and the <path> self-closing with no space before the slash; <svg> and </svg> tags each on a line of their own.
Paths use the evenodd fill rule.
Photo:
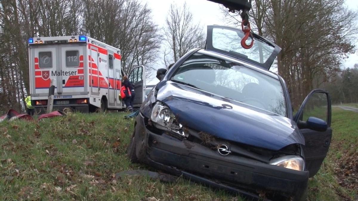
<svg viewBox="0 0 358 201">
<path fill-rule="evenodd" d="M 134 107 L 140 107 L 143 101 L 145 100 L 145 89 L 146 89 L 146 79 L 145 79 L 145 68 L 144 65 L 134 67 L 128 75 L 129 81 L 134 84 Z"/>
</svg>

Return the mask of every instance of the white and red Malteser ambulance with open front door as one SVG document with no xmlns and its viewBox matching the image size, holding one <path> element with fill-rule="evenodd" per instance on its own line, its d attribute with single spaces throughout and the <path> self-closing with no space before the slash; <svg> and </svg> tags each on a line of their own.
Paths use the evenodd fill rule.
<svg viewBox="0 0 358 201">
<path fill-rule="evenodd" d="M 37 112 L 47 107 L 50 82 L 54 79 L 54 109 L 91 111 L 125 108 L 118 98 L 122 85 L 119 49 L 87 36 L 29 39 L 30 95 Z M 145 98 L 145 68 L 132 69 L 134 106 Z"/>
</svg>

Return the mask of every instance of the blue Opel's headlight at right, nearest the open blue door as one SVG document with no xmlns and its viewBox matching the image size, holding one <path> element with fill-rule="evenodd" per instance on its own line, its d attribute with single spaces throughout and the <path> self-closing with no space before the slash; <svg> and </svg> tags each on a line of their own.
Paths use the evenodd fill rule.
<svg viewBox="0 0 358 201">
<path fill-rule="evenodd" d="M 283 156 L 270 161 L 271 165 L 277 165 L 292 170 L 305 170 L 305 160 L 300 156 Z"/>
</svg>

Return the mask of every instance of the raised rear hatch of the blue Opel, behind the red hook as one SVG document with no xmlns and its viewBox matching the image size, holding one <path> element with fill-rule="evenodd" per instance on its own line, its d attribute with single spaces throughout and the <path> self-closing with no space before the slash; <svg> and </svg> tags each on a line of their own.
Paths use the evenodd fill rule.
<svg viewBox="0 0 358 201">
<path fill-rule="evenodd" d="M 241 46 L 241 40 L 244 36 L 245 33 L 241 29 L 209 25 L 205 49 L 223 53 L 269 70 L 281 48 L 252 33 L 253 46 L 250 49 L 245 49 Z M 247 43 L 251 43 L 251 40 L 251 38 L 247 39 Z"/>
</svg>

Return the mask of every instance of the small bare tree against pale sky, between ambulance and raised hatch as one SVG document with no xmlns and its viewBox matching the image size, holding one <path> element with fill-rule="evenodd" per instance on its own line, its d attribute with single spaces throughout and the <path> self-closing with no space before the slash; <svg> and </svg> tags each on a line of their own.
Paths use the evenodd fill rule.
<svg viewBox="0 0 358 201">
<path fill-rule="evenodd" d="M 193 14 L 186 3 L 181 8 L 176 4 L 170 5 L 163 31 L 169 49 L 164 52 L 164 63 L 167 67 L 190 49 L 205 45 L 203 29 L 200 23 L 193 21 Z"/>
</svg>

